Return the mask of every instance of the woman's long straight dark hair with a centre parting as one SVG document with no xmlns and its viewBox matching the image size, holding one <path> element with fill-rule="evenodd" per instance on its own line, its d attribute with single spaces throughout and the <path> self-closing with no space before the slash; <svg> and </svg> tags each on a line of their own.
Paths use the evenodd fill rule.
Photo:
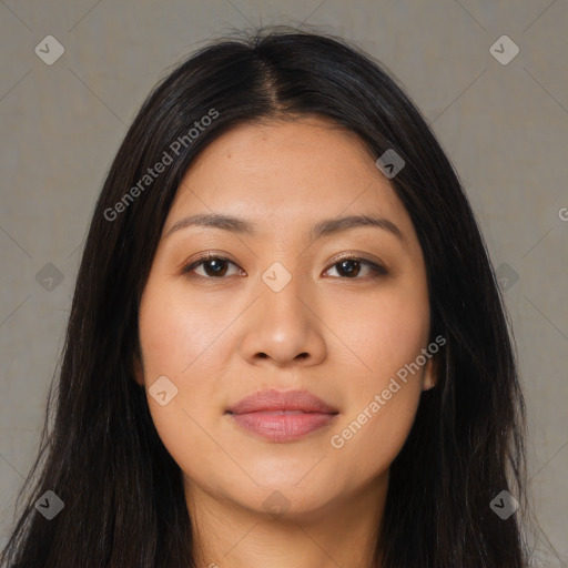
<svg viewBox="0 0 568 568">
<path fill-rule="evenodd" d="M 395 150 L 404 159 L 390 181 L 424 252 L 430 336 L 446 338 L 437 385 L 423 393 L 392 464 L 376 560 L 527 566 L 524 399 L 503 298 L 457 175 L 379 63 L 341 39 L 282 29 L 200 50 L 153 90 L 126 133 L 95 206 L 59 382 L 2 566 L 195 566 L 181 470 L 133 379 L 139 301 L 195 155 L 235 124 L 306 114 L 358 134 L 377 158 Z M 165 154 L 164 171 L 144 178 Z M 52 520 L 34 507 L 47 490 L 64 503 Z M 521 504 L 507 519 L 490 507 L 503 490 Z"/>
</svg>

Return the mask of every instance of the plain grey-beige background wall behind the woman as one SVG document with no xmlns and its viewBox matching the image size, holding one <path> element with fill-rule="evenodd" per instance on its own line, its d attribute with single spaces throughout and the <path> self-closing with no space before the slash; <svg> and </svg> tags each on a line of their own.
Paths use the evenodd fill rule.
<svg viewBox="0 0 568 568">
<path fill-rule="evenodd" d="M 532 506 L 568 556 L 567 0 L 0 2 L 0 546 L 38 446 L 82 242 L 118 145 L 182 57 L 258 23 L 357 42 L 396 74 L 439 136 L 506 290 L 528 400 Z M 64 53 L 48 65 L 34 48 L 45 50 L 50 34 Z M 520 50 L 508 64 L 490 51 L 504 34 Z M 495 49 L 513 54 L 506 43 Z M 547 566 L 544 556 L 537 566 Z"/>
</svg>

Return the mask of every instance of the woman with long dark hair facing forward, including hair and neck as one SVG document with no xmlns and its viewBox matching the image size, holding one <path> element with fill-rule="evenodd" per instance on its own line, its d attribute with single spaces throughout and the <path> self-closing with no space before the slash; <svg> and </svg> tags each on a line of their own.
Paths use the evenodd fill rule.
<svg viewBox="0 0 568 568">
<path fill-rule="evenodd" d="M 424 118 L 341 40 L 217 42 L 151 93 L 55 405 L 3 566 L 527 566 L 484 241 Z"/>
</svg>

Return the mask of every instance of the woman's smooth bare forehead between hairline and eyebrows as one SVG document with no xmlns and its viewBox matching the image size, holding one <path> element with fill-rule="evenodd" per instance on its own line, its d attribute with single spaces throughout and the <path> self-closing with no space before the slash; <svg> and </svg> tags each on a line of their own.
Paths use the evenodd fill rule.
<svg viewBox="0 0 568 568">
<path fill-rule="evenodd" d="M 266 229 L 365 213 L 412 232 L 362 140 L 320 116 L 240 124 L 213 141 L 185 172 L 165 231 L 174 217 L 202 212 L 239 215 Z"/>
</svg>

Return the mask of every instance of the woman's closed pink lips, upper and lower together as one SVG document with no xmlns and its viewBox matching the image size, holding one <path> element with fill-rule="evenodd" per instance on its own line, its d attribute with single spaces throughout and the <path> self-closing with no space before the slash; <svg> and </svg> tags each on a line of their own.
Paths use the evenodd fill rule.
<svg viewBox="0 0 568 568">
<path fill-rule="evenodd" d="M 293 442 L 328 426 L 338 410 L 306 390 L 261 390 L 229 408 L 245 430 L 271 442 Z"/>
</svg>

